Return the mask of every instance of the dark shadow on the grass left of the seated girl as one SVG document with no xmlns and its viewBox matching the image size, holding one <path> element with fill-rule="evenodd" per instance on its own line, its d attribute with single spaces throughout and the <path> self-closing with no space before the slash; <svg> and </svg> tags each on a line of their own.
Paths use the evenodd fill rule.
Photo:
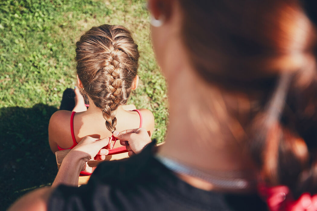
<svg viewBox="0 0 317 211">
<path fill-rule="evenodd" d="M 0 109 L 0 210 L 53 182 L 57 166 L 49 148 L 48 125 L 55 111 L 44 104 Z"/>
</svg>

